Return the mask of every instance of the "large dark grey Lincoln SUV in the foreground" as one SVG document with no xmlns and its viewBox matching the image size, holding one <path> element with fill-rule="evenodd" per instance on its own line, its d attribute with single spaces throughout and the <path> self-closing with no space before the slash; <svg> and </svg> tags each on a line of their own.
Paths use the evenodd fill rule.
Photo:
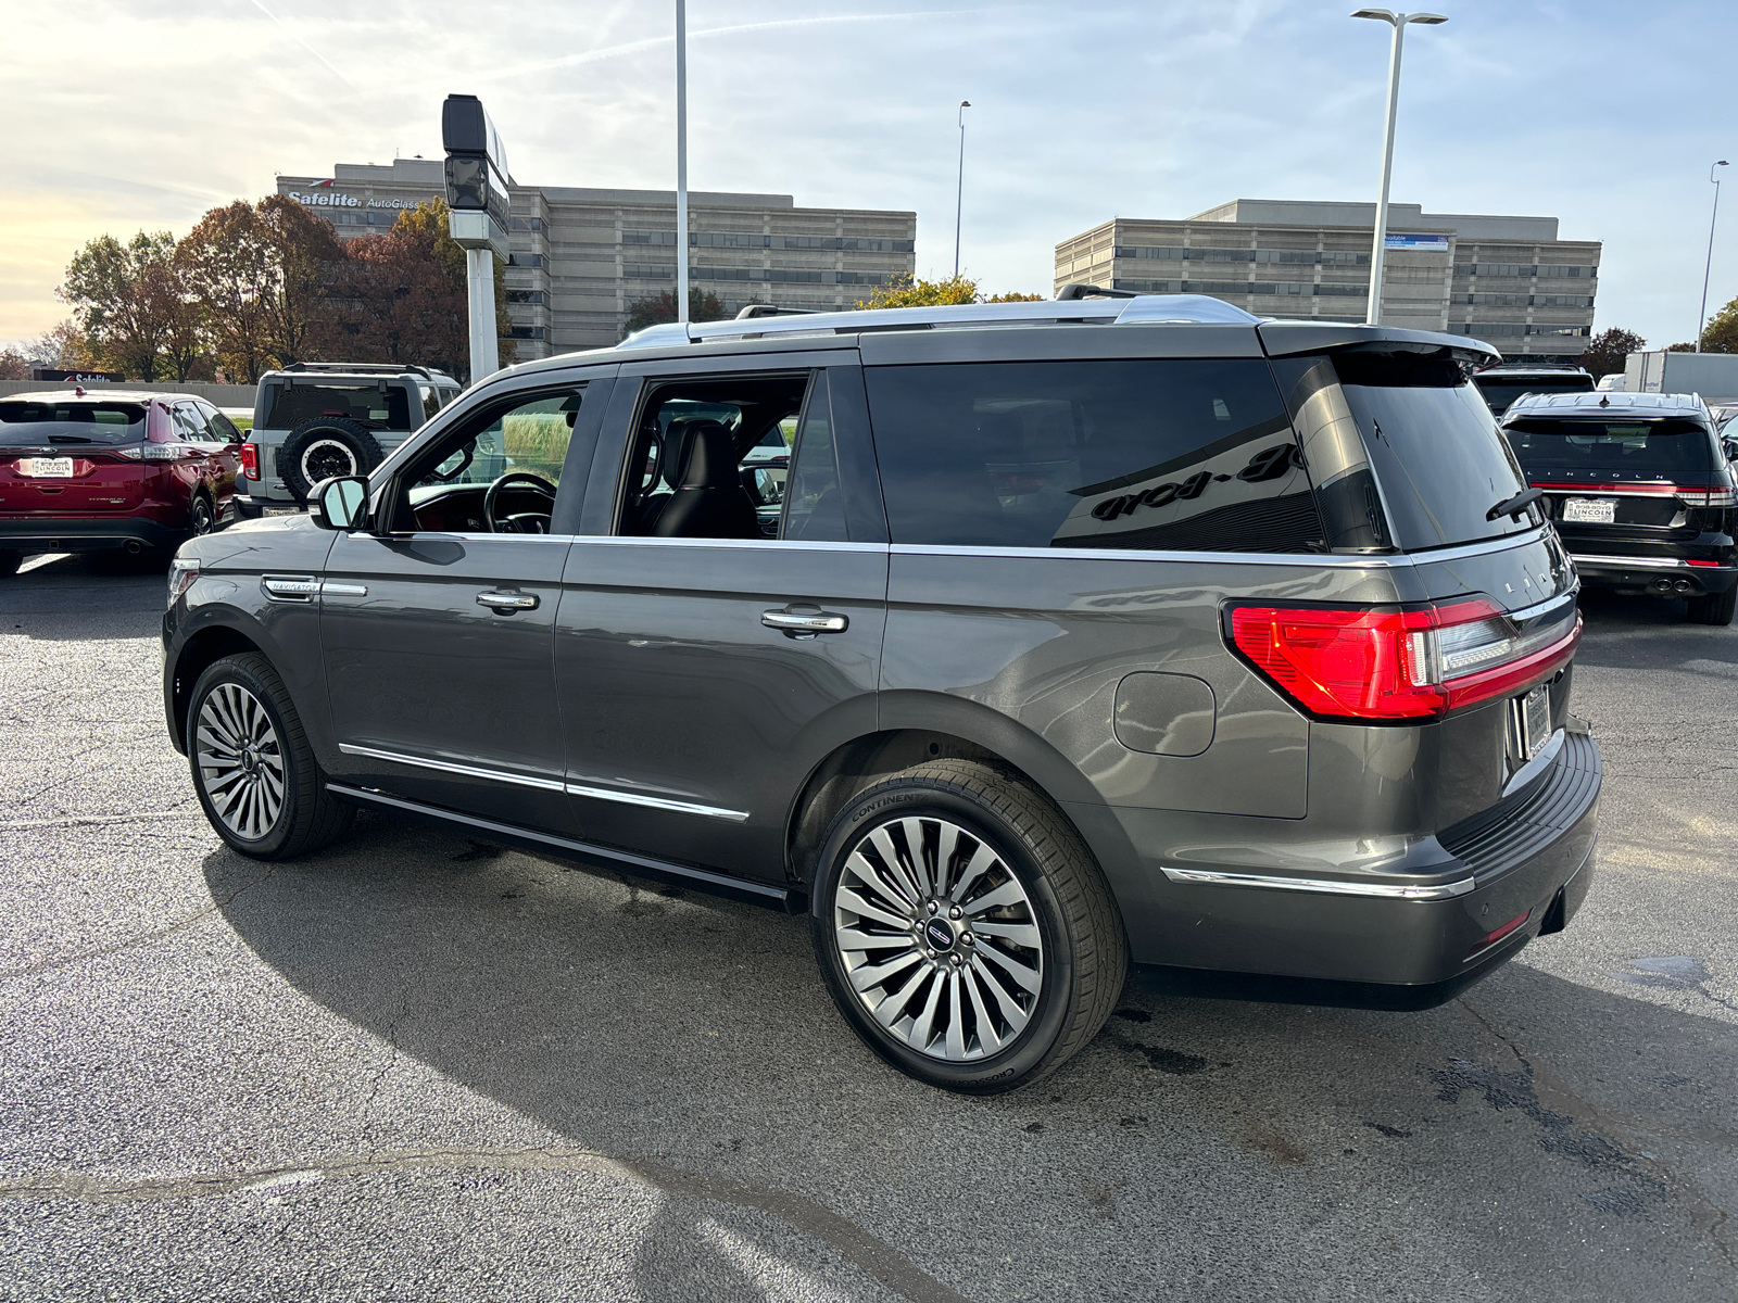
<svg viewBox="0 0 1738 1303">
<path fill-rule="evenodd" d="M 852 1027 L 961 1091 L 1130 961 L 1420 1008 L 1559 931 L 1601 761 L 1486 346 L 1065 294 L 530 361 L 188 546 L 212 827 L 276 860 L 368 804 L 806 910 Z"/>
</svg>

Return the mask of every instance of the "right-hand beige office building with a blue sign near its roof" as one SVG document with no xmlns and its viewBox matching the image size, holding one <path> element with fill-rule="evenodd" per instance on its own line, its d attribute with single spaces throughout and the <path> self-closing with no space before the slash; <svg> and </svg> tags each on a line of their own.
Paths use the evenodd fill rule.
<svg viewBox="0 0 1738 1303">
<path fill-rule="evenodd" d="M 1184 221 L 1116 217 L 1057 245 L 1057 288 L 1090 281 L 1210 294 L 1257 316 L 1363 321 L 1375 203 L 1232 200 Z M 1474 335 L 1503 356 L 1571 361 L 1587 347 L 1599 241 L 1556 217 L 1389 205 L 1382 321 Z"/>
</svg>

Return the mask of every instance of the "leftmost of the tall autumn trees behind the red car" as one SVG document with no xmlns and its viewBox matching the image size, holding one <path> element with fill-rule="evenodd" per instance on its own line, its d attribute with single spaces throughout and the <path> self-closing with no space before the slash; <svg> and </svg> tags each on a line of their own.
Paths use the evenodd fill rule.
<svg viewBox="0 0 1738 1303">
<path fill-rule="evenodd" d="M 169 231 L 139 231 L 125 245 L 99 235 L 73 254 L 59 295 L 71 304 L 94 361 L 146 382 L 163 370 L 163 346 L 179 308 L 174 254 Z"/>
</svg>

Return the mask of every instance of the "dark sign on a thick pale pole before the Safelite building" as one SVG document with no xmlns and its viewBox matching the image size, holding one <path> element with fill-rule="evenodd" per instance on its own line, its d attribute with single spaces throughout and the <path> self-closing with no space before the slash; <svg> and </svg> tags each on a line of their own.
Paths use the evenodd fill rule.
<svg viewBox="0 0 1738 1303">
<path fill-rule="evenodd" d="M 471 299 L 471 384 L 501 370 L 495 259 L 507 261 L 507 151 L 476 96 L 447 96 L 447 231 L 464 248 Z"/>
</svg>

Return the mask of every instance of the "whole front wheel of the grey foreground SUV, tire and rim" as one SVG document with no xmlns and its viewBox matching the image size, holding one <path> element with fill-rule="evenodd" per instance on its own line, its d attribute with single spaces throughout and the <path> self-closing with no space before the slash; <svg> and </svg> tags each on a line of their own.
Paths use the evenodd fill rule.
<svg viewBox="0 0 1738 1303">
<path fill-rule="evenodd" d="M 356 813 L 327 792 L 290 695 L 259 653 L 224 657 L 193 685 L 188 764 L 217 836 L 255 860 L 318 850 Z"/>
</svg>

